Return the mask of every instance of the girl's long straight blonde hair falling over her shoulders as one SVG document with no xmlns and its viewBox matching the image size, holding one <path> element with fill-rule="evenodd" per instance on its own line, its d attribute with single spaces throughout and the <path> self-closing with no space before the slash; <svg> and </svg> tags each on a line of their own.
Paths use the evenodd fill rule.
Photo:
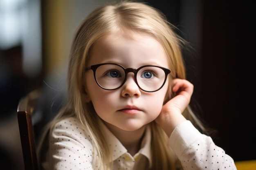
<svg viewBox="0 0 256 170">
<path fill-rule="evenodd" d="M 149 35 L 164 47 L 166 56 L 168 56 L 169 68 L 171 68 L 169 78 L 186 79 L 181 52 L 181 48 L 186 44 L 186 41 L 182 40 L 173 29 L 175 27 L 167 22 L 160 11 L 141 2 L 120 2 L 99 7 L 92 11 L 79 26 L 72 44 L 67 75 L 67 104 L 47 126 L 39 145 L 40 154 L 43 154 L 43 141 L 47 137 L 49 129 L 65 117 L 76 117 L 90 133 L 94 155 L 98 155 L 97 161 L 93 161 L 93 167 L 110 169 L 111 165 L 108 164 L 111 162 L 111 160 L 108 160 L 111 158 L 110 151 L 108 146 L 104 144 L 103 134 L 98 128 L 99 117 L 95 113 L 92 103 L 84 102 L 82 99 L 82 93 L 84 93 L 82 82 L 85 79 L 84 73 L 90 57 L 90 49 L 95 42 L 105 35 L 126 31 Z M 172 96 L 171 90 L 168 90 L 165 102 L 171 99 Z M 189 107 L 183 114 L 187 119 L 203 128 Z M 174 170 L 174 158 L 169 152 L 168 138 L 155 121 L 150 123 L 150 128 L 152 130 L 151 144 L 153 146 L 151 169 Z"/>
</svg>

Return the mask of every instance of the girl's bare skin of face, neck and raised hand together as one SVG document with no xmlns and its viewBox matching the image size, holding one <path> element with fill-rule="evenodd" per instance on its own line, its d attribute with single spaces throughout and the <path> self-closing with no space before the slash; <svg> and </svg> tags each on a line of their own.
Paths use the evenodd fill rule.
<svg viewBox="0 0 256 170">
<path fill-rule="evenodd" d="M 88 65 L 117 63 L 125 68 L 139 68 L 144 65 L 168 68 L 166 54 L 157 40 L 145 35 L 133 35 L 102 38 L 92 47 Z M 135 154 L 146 124 L 156 120 L 170 136 L 173 129 L 186 120 L 181 113 L 189 104 L 193 85 L 182 79 L 171 81 L 173 82 L 167 79 L 159 91 L 148 93 L 139 89 L 134 73 L 128 73 L 123 86 L 107 91 L 97 85 L 93 71 L 89 70 L 83 84 L 86 91 L 84 98 L 86 101 L 92 101 L 96 113 L 110 131 L 128 152 Z M 170 84 L 174 84 L 173 91 L 178 95 L 163 106 Z"/>
</svg>

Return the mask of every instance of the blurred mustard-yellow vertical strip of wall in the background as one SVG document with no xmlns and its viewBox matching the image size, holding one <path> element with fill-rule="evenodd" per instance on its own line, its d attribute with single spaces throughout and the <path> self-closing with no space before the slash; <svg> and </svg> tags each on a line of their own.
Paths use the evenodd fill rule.
<svg viewBox="0 0 256 170">
<path fill-rule="evenodd" d="M 45 73 L 52 74 L 66 64 L 70 49 L 68 40 L 68 13 L 70 2 L 67 0 L 43 0 L 43 49 Z"/>
</svg>

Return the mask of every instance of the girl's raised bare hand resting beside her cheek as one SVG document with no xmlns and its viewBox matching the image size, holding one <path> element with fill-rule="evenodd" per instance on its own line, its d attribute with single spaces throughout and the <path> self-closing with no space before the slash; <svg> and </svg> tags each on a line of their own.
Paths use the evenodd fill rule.
<svg viewBox="0 0 256 170">
<path fill-rule="evenodd" d="M 172 91 L 175 96 L 164 104 L 161 113 L 155 119 L 168 137 L 177 125 L 186 121 L 182 112 L 189 105 L 193 88 L 193 84 L 185 79 L 173 79 Z"/>
</svg>

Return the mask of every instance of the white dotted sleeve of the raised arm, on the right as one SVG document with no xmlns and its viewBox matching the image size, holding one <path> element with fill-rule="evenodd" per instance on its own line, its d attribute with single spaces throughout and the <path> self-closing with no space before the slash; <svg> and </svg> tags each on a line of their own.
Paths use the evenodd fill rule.
<svg viewBox="0 0 256 170">
<path fill-rule="evenodd" d="M 169 145 L 184 170 L 236 170 L 234 160 L 190 121 L 182 122 L 173 130 Z"/>
</svg>

